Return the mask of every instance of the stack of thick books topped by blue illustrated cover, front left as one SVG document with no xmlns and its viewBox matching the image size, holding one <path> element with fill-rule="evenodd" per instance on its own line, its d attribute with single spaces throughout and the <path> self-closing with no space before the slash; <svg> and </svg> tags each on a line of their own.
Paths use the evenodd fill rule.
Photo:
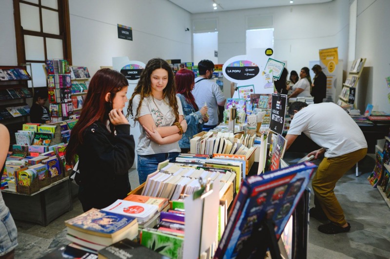
<svg viewBox="0 0 390 259">
<path fill-rule="evenodd" d="M 138 235 L 136 218 L 95 208 L 65 221 L 65 225 L 68 240 L 95 251 Z"/>
</svg>

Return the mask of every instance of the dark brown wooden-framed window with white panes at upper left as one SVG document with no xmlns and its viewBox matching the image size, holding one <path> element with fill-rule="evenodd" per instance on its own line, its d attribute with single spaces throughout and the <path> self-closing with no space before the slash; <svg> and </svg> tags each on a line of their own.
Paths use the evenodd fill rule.
<svg viewBox="0 0 390 259">
<path fill-rule="evenodd" d="M 46 59 L 72 64 L 68 0 L 14 0 L 14 19 L 18 64 L 31 63 L 34 86 L 46 86 Z"/>
</svg>

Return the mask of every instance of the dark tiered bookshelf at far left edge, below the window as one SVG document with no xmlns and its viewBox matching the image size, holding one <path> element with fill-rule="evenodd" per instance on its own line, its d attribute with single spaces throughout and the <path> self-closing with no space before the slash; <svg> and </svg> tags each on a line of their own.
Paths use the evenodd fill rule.
<svg viewBox="0 0 390 259">
<path fill-rule="evenodd" d="M 31 79 L 26 66 L 0 66 L 0 123 L 10 132 L 10 144 L 15 144 L 15 132 L 30 116 L 27 100 L 33 97 L 34 88 L 28 88 Z"/>
</svg>

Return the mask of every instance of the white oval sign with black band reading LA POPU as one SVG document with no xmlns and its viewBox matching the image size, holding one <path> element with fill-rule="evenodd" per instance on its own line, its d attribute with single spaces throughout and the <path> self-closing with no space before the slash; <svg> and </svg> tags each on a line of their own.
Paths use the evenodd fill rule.
<svg viewBox="0 0 390 259">
<path fill-rule="evenodd" d="M 259 74 L 259 67 L 248 60 L 237 60 L 225 67 L 225 73 L 236 80 L 248 80 Z"/>
</svg>

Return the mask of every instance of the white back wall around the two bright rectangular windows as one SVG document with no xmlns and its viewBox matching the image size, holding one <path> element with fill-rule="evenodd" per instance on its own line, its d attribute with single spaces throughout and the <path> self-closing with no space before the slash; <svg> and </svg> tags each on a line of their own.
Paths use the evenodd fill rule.
<svg viewBox="0 0 390 259">
<path fill-rule="evenodd" d="M 246 17 L 256 15 L 273 15 L 274 58 L 286 60 L 289 71 L 299 71 L 309 66 L 310 60 L 318 60 L 320 49 L 338 47 L 339 59 L 347 59 L 349 2 L 345 0 L 203 13 L 192 19 L 218 20 L 218 63 L 223 64 L 246 54 Z M 341 81 L 338 84 L 341 87 Z M 224 93 L 230 97 L 230 85 L 224 84 Z"/>
</svg>

